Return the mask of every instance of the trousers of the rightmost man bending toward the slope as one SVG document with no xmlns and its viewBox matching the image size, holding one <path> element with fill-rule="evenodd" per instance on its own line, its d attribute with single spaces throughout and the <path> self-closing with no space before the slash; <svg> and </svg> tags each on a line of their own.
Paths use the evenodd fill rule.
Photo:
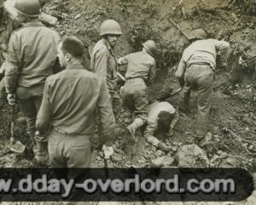
<svg viewBox="0 0 256 205">
<path fill-rule="evenodd" d="M 213 71 L 210 65 L 190 65 L 185 72 L 185 85 L 181 107 L 189 106 L 191 89 L 198 92 L 197 100 L 197 134 L 204 135 L 207 132 L 207 121 L 212 105 Z"/>
</svg>

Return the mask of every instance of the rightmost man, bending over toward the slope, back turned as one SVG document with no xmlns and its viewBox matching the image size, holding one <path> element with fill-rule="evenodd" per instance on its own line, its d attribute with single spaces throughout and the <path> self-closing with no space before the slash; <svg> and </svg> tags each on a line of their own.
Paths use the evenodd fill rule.
<svg viewBox="0 0 256 205">
<path fill-rule="evenodd" d="M 213 75 L 217 67 L 226 65 L 230 43 L 207 39 L 207 33 L 196 29 L 190 37 L 191 44 L 183 52 L 177 67 L 176 77 L 183 86 L 183 98 L 179 108 L 187 111 L 192 88 L 198 91 L 197 137 L 203 138 L 207 133 L 207 119 L 212 104 Z"/>
</svg>

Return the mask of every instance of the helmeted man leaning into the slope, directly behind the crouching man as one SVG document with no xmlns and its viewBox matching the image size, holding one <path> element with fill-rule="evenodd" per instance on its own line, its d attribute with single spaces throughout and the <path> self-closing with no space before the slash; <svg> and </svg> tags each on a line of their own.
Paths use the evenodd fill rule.
<svg viewBox="0 0 256 205">
<path fill-rule="evenodd" d="M 127 54 L 120 58 L 119 65 L 127 64 L 125 74 L 125 86 L 121 96 L 128 108 L 134 112 L 134 121 L 127 127 L 131 134 L 131 140 L 136 142 L 136 130 L 145 124 L 148 117 L 148 85 L 154 81 L 155 56 L 157 45 L 148 40 L 143 43 L 143 50 L 137 53 Z"/>
</svg>

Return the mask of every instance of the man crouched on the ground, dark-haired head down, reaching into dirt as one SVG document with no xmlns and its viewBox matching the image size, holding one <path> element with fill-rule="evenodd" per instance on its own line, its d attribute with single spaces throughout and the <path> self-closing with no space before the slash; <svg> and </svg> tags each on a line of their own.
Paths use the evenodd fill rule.
<svg viewBox="0 0 256 205">
<path fill-rule="evenodd" d="M 166 145 L 156 137 L 156 130 L 167 133 L 169 137 L 173 135 L 173 128 L 178 121 L 178 112 L 166 101 L 155 101 L 149 105 L 148 121 L 143 136 L 148 143 L 156 146 L 162 151 L 168 151 Z"/>
</svg>

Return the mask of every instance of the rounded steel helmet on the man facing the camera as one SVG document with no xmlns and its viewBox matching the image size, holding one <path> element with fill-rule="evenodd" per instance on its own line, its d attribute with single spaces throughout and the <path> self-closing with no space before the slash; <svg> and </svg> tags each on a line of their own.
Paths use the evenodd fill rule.
<svg viewBox="0 0 256 205">
<path fill-rule="evenodd" d="M 115 20 L 105 20 L 101 26 L 100 36 L 107 34 L 122 35 L 123 33 L 119 23 Z"/>
</svg>

